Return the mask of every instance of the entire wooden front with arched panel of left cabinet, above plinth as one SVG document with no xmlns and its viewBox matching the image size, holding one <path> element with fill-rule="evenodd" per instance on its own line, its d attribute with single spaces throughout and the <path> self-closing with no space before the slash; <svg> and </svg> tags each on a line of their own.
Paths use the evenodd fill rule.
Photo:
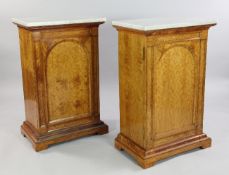
<svg viewBox="0 0 229 175">
<path fill-rule="evenodd" d="M 98 116 L 98 110 L 93 110 L 98 106 L 97 45 L 89 32 L 75 29 L 40 33 L 36 43 L 40 54 L 39 106 L 41 122 L 49 129 L 85 124 Z"/>
</svg>

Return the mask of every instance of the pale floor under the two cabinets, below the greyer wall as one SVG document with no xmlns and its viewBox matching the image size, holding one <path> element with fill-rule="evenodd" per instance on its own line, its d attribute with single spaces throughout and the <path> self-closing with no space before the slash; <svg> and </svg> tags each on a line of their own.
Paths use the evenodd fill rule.
<svg viewBox="0 0 229 175">
<path fill-rule="evenodd" d="M 212 138 L 212 147 L 174 156 L 145 170 L 113 146 L 119 132 L 117 85 L 101 87 L 101 119 L 109 125 L 109 134 L 61 143 L 39 153 L 20 134 L 21 86 L 19 81 L 0 85 L 0 175 L 229 174 L 229 80 L 206 83 L 204 131 Z"/>
</svg>

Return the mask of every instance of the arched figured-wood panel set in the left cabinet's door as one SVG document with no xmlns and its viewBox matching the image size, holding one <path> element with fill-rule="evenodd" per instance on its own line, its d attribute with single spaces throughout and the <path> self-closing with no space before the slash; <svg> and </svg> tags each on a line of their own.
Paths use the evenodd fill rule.
<svg viewBox="0 0 229 175">
<path fill-rule="evenodd" d="M 57 44 L 47 57 L 49 120 L 90 112 L 89 57 L 76 41 Z"/>
</svg>

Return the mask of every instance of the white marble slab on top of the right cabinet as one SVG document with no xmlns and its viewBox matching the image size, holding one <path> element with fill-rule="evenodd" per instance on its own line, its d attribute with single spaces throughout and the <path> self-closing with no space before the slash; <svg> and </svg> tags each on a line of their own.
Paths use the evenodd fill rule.
<svg viewBox="0 0 229 175">
<path fill-rule="evenodd" d="M 198 20 L 198 19 L 170 19 L 170 18 L 148 18 L 136 20 L 112 21 L 113 26 L 125 27 L 141 31 L 190 27 L 216 24 L 213 20 Z"/>
</svg>

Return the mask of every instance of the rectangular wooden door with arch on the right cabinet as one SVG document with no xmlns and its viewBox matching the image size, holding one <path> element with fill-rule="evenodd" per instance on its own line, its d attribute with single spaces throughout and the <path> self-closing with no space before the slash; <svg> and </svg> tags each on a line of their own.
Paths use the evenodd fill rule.
<svg viewBox="0 0 229 175">
<path fill-rule="evenodd" d="M 150 47 L 153 146 L 195 134 L 198 116 L 200 40 Z"/>
</svg>

